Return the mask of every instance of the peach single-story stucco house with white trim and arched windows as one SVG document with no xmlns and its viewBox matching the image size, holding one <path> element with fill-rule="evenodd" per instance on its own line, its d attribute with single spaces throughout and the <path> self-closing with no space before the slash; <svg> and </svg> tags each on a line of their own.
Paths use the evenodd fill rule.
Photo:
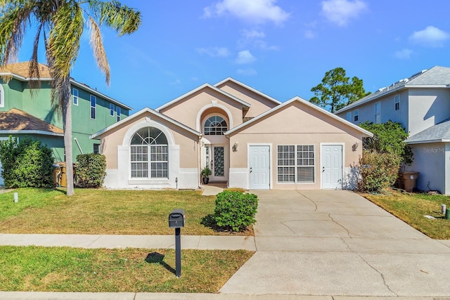
<svg viewBox="0 0 450 300">
<path fill-rule="evenodd" d="M 156 110 L 94 133 L 107 188 L 354 188 L 352 166 L 372 134 L 302 98 L 285 103 L 235 79 L 203 84 Z"/>
</svg>

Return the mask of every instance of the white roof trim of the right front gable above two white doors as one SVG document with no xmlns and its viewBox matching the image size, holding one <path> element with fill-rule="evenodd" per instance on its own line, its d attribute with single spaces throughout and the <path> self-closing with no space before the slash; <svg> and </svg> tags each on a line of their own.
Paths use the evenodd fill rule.
<svg viewBox="0 0 450 300">
<path fill-rule="evenodd" d="M 328 112 L 327 110 L 324 110 L 323 108 L 321 108 L 321 107 L 319 107 L 317 105 L 314 105 L 314 104 L 310 103 L 309 101 L 304 100 L 303 98 L 300 98 L 298 96 L 296 96 L 296 97 L 286 101 L 285 103 L 283 103 L 281 105 L 278 105 L 278 106 L 272 108 L 271 110 L 268 110 L 268 111 L 262 113 L 261 115 L 255 117 L 253 119 L 250 119 L 250 121 L 248 121 L 248 122 L 240 124 L 239 126 L 236 126 L 233 129 L 231 129 L 229 131 L 226 131 L 225 135 L 228 136 L 228 135 L 230 135 L 232 133 L 235 133 L 235 132 L 239 131 L 240 129 L 244 129 L 244 128 L 248 127 L 248 126 L 252 126 L 252 124 L 255 124 L 255 122 L 257 122 L 258 120 L 264 119 L 266 116 L 271 115 L 274 112 L 276 113 L 279 110 L 281 110 L 283 107 L 285 107 L 287 105 L 290 105 L 291 103 L 294 103 L 294 102 L 301 103 L 302 105 L 306 105 L 307 107 L 310 107 L 310 108 L 316 110 L 321 115 L 323 115 L 323 117 L 329 117 L 331 119 L 334 119 L 335 121 L 338 121 L 338 122 L 340 122 L 342 124 L 345 124 L 345 125 L 353 128 L 353 129 L 356 129 L 357 131 L 360 131 L 363 134 L 364 137 L 371 137 L 371 136 L 373 136 L 373 133 L 371 133 L 369 131 L 366 131 L 365 129 L 362 129 L 359 126 L 357 126 L 355 124 L 352 124 L 351 122 L 348 122 L 345 119 L 342 119 L 341 117 L 333 115 L 331 112 Z"/>
</svg>

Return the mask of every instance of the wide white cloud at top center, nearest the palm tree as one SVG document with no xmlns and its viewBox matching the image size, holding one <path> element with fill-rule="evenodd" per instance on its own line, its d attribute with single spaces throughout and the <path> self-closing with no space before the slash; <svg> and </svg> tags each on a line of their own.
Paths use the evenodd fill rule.
<svg viewBox="0 0 450 300">
<path fill-rule="evenodd" d="M 262 24 L 274 22 L 281 25 L 288 20 L 289 13 L 275 5 L 276 0 L 222 0 L 203 8 L 205 18 L 230 14 L 247 22 Z"/>
</svg>

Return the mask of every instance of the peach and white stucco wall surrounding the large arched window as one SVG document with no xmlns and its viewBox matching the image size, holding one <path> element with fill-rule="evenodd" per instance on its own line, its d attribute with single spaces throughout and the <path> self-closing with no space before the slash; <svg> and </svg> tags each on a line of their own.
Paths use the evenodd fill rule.
<svg viewBox="0 0 450 300">
<path fill-rule="evenodd" d="M 147 126 L 156 127 L 165 133 L 169 143 L 169 178 L 131 178 L 129 143 L 134 133 Z M 101 136 L 101 153 L 106 157 L 107 188 L 197 188 L 198 137 L 195 134 L 146 113 L 130 119 Z"/>
</svg>

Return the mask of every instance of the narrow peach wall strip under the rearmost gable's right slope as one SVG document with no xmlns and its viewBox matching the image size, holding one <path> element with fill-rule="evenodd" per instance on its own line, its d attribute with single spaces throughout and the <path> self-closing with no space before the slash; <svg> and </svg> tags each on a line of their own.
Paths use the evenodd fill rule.
<svg viewBox="0 0 450 300">
<path fill-rule="evenodd" d="M 276 107 L 277 103 L 271 101 L 258 93 L 245 89 L 243 86 L 234 83 L 233 81 L 226 81 L 224 84 L 217 86 L 222 91 L 229 93 L 230 95 L 235 96 L 241 100 L 252 105 L 248 112 L 245 113 L 245 117 L 256 117 L 257 115 L 261 115 L 263 112 L 270 110 L 271 108 Z"/>
</svg>

